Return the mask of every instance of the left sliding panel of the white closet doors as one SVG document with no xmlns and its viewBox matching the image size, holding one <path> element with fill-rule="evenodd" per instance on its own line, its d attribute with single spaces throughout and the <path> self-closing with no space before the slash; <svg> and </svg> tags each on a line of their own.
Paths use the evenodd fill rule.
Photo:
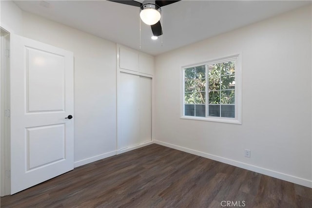
<svg viewBox="0 0 312 208">
<path fill-rule="evenodd" d="M 140 142 L 139 87 L 139 76 L 120 72 L 117 92 L 118 149 Z"/>
</svg>

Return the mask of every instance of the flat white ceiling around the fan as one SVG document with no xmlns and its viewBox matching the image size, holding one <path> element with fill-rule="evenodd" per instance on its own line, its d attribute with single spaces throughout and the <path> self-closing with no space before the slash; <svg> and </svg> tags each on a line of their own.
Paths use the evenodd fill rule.
<svg viewBox="0 0 312 208">
<path fill-rule="evenodd" d="M 106 0 L 14 2 L 24 11 L 139 50 L 138 7 Z M 141 51 L 158 55 L 310 3 L 311 0 L 181 0 L 162 7 L 162 38 L 152 40 L 150 26 L 141 23 Z"/>
</svg>

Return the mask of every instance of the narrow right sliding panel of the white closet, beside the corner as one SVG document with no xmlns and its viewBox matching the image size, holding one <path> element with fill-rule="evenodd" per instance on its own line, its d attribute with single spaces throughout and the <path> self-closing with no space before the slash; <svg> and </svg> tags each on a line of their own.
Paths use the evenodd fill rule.
<svg viewBox="0 0 312 208">
<path fill-rule="evenodd" d="M 140 76 L 140 143 L 152 140 L 152 78 Z"/>
</svg>

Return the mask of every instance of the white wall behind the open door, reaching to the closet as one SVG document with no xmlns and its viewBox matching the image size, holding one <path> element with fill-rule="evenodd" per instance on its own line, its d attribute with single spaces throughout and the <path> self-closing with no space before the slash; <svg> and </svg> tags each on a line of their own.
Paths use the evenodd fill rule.
<svg viewBox="0 0 312 208">
<path fill-rule="evenodd" d="M 115 154 L 116 44 L 28 12 L 22 18 L 24 37 L 74 52 L 75 166 Z"/>
</svg>

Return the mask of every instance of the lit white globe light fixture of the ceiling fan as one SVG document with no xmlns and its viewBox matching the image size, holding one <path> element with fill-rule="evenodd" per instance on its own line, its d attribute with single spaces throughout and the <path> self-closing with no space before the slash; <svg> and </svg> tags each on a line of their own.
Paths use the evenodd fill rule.
<svg viewBox="0 0 312 208">
<path fill-rule="evenodd" d="M 140 18 L 145 24 L 154 25 L 161 18 L 161 9 L 155 4 L 144 4 L 141 6 Z"/>
</svg>

